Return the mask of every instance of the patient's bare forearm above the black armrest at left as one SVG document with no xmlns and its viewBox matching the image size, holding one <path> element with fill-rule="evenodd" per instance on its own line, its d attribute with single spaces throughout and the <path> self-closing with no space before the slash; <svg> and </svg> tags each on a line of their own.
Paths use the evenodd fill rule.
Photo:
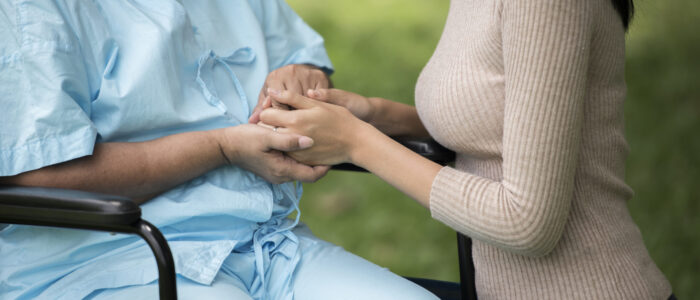
<svg viewBox="0 0 700 300">
<path fill-rule="evenodd" d="M 136 143 L 100 143 L 90 156 L 11 177 L 1 184 L 130 197 L 139 203 L 225 163 L 213 131 Z"/>
</svg>

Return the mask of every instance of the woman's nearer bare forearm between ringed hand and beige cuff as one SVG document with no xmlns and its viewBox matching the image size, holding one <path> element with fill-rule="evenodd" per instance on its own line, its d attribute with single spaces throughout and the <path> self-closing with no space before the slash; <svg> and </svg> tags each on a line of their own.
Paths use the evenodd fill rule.
<svg viewBox="0 0 700 300">
<path fill-rule="evenodd" d="M 362 142 L 351 153 L 354 164 L 430 207 L 430 189 L 442 166 L 397 143 L 377 130 L 363 130 Z"/>
</svg>

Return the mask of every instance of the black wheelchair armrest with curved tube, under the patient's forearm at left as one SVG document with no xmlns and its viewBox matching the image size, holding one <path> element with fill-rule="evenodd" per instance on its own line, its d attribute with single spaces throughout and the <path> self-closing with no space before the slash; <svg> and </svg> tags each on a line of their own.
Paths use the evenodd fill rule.
<svg viewBox="0 0 700 300">
<path fill-rule="evenodd" d="M 170 247 L 158 228 L 141 220 L 141 208 L 127 198 L 65 189 L 0 186 L 0 223 L 137 234 L 155 256 L 160 299 L 177 299 Z"/>
</svg>

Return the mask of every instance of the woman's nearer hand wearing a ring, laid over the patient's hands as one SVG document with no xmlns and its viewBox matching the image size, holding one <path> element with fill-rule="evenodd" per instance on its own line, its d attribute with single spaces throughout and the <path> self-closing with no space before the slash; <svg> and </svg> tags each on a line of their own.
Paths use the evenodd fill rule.
<svg viewBox="0 0 700 300">
<path fill-rule="evenodd" d="M 289 91 L 271 90 L 269 94 L 273 100 L 295 110 L 266 109 L 260 114 L 260 119 L 279 127 L 279 132 L 308 136 L 314 141 L 309 149 L 287 153 L 297 161 L 311 165 L 352 162 L 353 151 L 362 143 L 363 133 L 375 130 L 343 106 L 315 101 Z"/>
</svg>

